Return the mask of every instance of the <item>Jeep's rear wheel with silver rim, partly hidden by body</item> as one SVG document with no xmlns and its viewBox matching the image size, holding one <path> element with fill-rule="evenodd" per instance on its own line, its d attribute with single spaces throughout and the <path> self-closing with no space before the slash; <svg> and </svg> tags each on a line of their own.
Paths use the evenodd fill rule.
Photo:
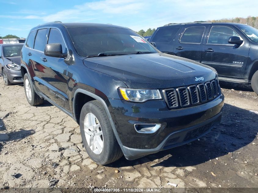
<svg viewBox="0 0 258 193">
<path fill-rule="evenodd" d="M 25 91 L 25 95 L 28 103 L 31 106 L 42 105 L 42 103 L 44 102 L 44 98 L 40 98 L 35 92 L 28 73 L 24 74 L 23 83 L 24 83 L 24 91 Z"/>
</svg>

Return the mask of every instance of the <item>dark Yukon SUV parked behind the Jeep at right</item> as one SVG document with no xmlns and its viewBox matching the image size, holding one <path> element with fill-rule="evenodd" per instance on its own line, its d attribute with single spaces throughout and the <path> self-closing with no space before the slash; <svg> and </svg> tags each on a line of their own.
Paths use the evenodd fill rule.
<svg viewBox="0 0 258 193">
<path fill-rule="evenodd" d="M 219 80 L 251 83 L 258 94 L 258 30 L 239 23 L 169 23 L 150 42 L 161 52 L 212 66 Z"/>
</svg>

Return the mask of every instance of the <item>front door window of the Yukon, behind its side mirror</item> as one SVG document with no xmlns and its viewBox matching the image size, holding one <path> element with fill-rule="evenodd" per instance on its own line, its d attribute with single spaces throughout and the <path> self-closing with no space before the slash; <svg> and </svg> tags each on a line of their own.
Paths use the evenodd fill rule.
<svg viewBox="0 0 258 193">
<path fill-rule="evenodd" d="M 225 26 L 213 26 L 210 30 L 207 44 L 231 45 L 228 39 L 237 36 L 242 39 L 234 30 Z"/>
</svg>

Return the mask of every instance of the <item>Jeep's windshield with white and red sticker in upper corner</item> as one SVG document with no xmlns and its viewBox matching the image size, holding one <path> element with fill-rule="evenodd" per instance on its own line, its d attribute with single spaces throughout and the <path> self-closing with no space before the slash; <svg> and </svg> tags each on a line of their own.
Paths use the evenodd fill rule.
<svg viewBox="0 0 258 193">
<path fill-rule="evenodd" d="M 80 56 L 158 53 L 136 32 L 115 27 L 67 28 Z"/>
</svg>

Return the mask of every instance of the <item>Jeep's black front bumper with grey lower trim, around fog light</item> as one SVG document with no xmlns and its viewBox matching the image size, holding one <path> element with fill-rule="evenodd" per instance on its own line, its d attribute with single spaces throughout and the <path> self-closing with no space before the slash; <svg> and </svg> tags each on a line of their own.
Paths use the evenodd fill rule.
<svg viewBox="0 0 258 193">
<path fill-rule="evenodd" d="M 184 145 L 220 123 L 224 95 L 189 108 L 169 110 L 164 100 L 132 103 L 109 99 L 109 111 L 126 159 L 132 160 L 164 149 Z M 152 134 L 138 133 L 134 124 L 162 126 Z"/>
</svg>

